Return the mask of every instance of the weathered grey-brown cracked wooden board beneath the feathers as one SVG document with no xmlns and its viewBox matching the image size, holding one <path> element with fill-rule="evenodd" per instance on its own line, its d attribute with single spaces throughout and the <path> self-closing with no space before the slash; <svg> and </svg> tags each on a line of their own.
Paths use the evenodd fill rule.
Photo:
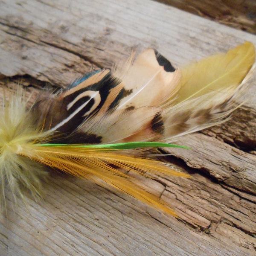
<svg viewBox="0 0 256 256">
<path fill-rule="evenodd" d="M 28 94 L 112 67 L 134 48 L 155 47 L 182 66 L 245 40 L 256 45 L 255 35 L 150 0 L 6 0 L 0 30 L 0 86 L 21 81 Z M 180 141 L 192 150 L 172 151 L 192 179 L 145 179 L 180 220 L 52 174 L 44 201 L 28 197 L 13 213 L 8 194 L 0 255 L 255 255 L 255 78 L 234 119 Z"/>
</svg>

